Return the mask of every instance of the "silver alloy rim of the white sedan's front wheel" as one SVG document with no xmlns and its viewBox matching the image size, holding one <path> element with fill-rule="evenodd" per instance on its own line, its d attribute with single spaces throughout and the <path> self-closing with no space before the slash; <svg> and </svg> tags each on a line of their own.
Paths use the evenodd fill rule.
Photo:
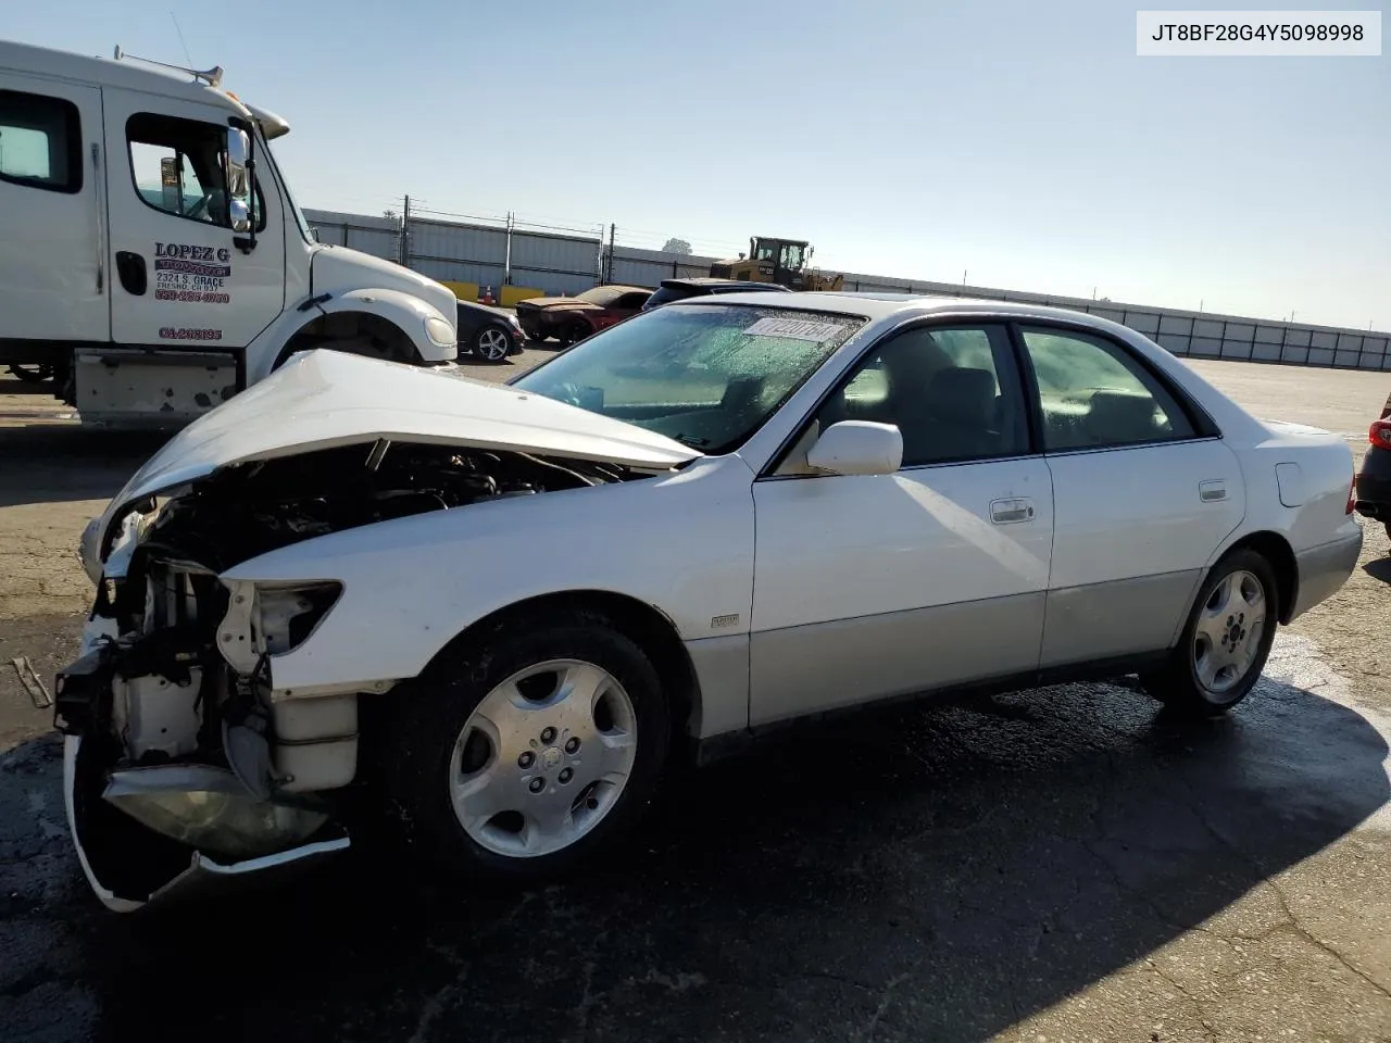
<svg viewBox="0 0 1391 1043">
<path fill-rule="evenodd" d="M 612 811 L 636 755 L 637 715 L 618 679 L 551 659 L 508 677 L 469 715 L 449 761 L 449 802 L 494 854 L 554 854 Z"/>
</svg>

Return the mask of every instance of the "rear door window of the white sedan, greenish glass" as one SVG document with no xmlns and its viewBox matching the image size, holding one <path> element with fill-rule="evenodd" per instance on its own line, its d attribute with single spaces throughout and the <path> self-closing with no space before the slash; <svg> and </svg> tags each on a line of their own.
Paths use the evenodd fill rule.
<svg viewBox="0 0 1391 1043">
<path fill-rule="evenodd" d="M 1102 337 L 1024 330 L 1038 377 L 1047 452 L 1192 438 L 1174 396 L 1128 352 Z"/>
</svg>

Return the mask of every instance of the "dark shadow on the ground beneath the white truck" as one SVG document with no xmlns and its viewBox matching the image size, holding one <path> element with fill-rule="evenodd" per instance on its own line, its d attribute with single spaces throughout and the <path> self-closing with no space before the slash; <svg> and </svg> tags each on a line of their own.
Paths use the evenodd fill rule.
<svg viewBox="0 0 1391 1043">
<path fill-rule="evenodd" d="M 0 508 L 114 496 L 168 432 L 0 427 Z"/>
</svg>

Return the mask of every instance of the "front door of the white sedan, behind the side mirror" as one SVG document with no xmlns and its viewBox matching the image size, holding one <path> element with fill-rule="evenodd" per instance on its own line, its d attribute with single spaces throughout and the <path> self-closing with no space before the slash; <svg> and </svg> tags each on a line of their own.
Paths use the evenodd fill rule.
<svg viewBox="0 0 1391 1043">
<path fill-rule="evenodd" d="M 814 423 L 896 424 L 894 474 L 754 483 L 750 723 L 1038 665 L 1053 538 L 1003 325 L 917 327 Z"/>
</svg>

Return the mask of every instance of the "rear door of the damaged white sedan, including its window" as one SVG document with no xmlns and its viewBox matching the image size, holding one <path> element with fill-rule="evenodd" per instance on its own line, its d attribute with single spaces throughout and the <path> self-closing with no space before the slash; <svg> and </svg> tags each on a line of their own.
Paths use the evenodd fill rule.
<svg viewBox="0 0 1391 1043">
<path fill-rule="evenodd" d="M 1245 515 L 1235 455 L 1125 345 L 1021 325 L 1053 478 L 1042 666 L 1168 648 Z"/>
</svg>

